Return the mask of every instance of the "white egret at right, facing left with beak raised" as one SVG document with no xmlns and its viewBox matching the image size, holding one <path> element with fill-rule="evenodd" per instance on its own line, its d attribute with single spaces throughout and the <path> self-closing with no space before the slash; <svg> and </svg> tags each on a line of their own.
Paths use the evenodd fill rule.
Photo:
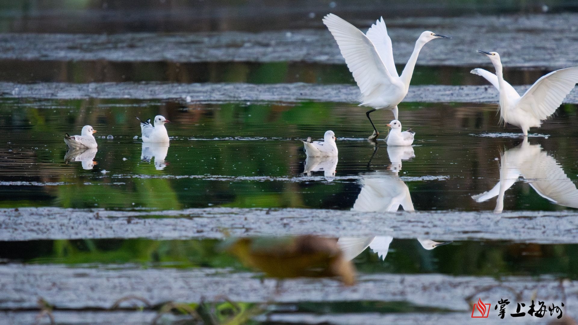
<svg viewBox="0 0 578 325">
<path fill-rule="evenodd" d="M 578 67 L 560 69 L 542 76 L 530 87 L 522 97 L 503 79 L 502 62 L 497 52 L 478 50 L 486 54 L 496 69 L 496 74 L 484 69 L 470 71 L 488 80 L 500 92 L 500 121 L 516 125 L 528 136 L 531 127 L 540 127 L 542 120 L 552 115 L 562 104 L 566 95 L 578 83 Z"/>
</svg>

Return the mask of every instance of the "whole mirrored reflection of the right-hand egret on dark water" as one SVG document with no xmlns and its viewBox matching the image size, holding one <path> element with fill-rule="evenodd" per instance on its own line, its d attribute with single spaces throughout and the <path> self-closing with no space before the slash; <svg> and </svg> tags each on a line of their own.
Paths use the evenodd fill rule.
<svg viewBox="0 0 578 325">
<path fill-rule="evenodd" d="M 506 190 L 518 182 L 520 177 L 541 197 L 555 204 L 578 208 L 576 185 L 566 176 L 554 157 L 540 145 L 530 145 L 528 138 L 524 138 L 520 145 L 501 155 L 500 180 L 494 188 L 473 195 L 472 198 L 477 202 L 484 202 L 498 196 L 494 213 L 501 213 Z"/>
</svg>

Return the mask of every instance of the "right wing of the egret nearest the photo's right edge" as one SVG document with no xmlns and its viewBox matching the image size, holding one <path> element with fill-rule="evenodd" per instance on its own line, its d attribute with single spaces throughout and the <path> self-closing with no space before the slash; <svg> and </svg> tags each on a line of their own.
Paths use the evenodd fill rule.
<svg viewBox="0 0 578 325">
<path fill-rule="evenodd" d="M 520 108 L 544 120 L 562 104 L 578 83 L 578 67 L 560 69 L 538 79 L 520 98 Z"/>
</svg>

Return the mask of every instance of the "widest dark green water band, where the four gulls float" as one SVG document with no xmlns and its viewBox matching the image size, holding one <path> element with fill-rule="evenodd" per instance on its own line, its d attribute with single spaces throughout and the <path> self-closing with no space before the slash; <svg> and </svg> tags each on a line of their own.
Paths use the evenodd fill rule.
<svg viewBox="0 0 578 325">
<path fill-rule="evenodd" d="M 169 147 L 134 139 L 140 134 L 134 115 L 157 112 L 173 122 Z M 575 105 L 558 110 L 524 144 L 516 128 L 498 126 L 495 105 L 403 104 L 403 127 L 417 134 L 414 146 L 402 151 L 383 140 L 366 141 L 370 125 L 363 112 L 355 105 L 317 102 L 182 106 L 3 99 L 0 205 L 351 209 L 364 179 L 399 176 L 416 210 L 493 210 L 497 193 L 478 198 L 484 202 L 472 195 L 498 183 L 501 165 L 511 171 L 502 178 L 513 183 L 505 191 L 505 210 L 577 205 L 571 191 L 578 179 Z M 375 112 L 373 119 L 383 139 L 392 114 Z M 67 156 L 62 136 L 78 134 L 85 124 L 105 139 L 98 139 L 96 152 Z M 321 138 L 329 129 L 339 139 L 338 161 L 309 161 L 312 171 L 303 173 L 306 156 L 297 139 Z M 327 171 L 316 171 L 321 167 Z"/>
</svg>

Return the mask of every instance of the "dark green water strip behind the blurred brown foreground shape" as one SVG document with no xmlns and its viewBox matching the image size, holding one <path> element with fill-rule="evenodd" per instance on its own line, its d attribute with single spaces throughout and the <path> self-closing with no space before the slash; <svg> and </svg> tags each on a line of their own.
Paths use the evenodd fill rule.
<svg viewBox="0 0 578 325">
<path fill-rule="evenodd" d="M 230 267 L 247 270 L 221 252 L 216 239 L 155 241 L 151 239 L 81 239 L 0 242 L 3 261 L 23 263 L 114 264 L 143 267 Z M 382 260 L 368 248 L 354 258 L 359 272 L 451 275 L 544 275 L 578 277 L 577 245 L 462 241 L 425 250 L 413 239 L 394 239 Z"/>
</svg>

